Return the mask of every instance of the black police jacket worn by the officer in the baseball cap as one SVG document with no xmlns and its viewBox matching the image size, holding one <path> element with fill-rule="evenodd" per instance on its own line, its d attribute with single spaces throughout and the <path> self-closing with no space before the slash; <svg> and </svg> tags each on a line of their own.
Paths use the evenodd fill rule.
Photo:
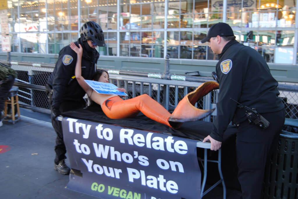
<svg viewBox="0 0 298 199">
<path fill-rule="evenodd" d="M 259 113 L 279 111 L 284 104 L 278 97 L 277 81 L 272 77 L 265 59 L 256 50 L 231 40 L 218 57 L 217 116 L 210 136 L 222 141 L 230 121 L 239 124 L 247 119 L 245 109 L 237 107 L 237 103 L 230 98 L 257 109 Z"/>
</svg>

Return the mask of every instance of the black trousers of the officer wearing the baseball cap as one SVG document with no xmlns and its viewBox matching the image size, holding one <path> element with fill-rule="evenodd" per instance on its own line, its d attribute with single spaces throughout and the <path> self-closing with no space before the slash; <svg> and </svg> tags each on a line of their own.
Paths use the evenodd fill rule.
<svg viewBox="0 0 298 199">
<path fill-rule="evenodd" d="M 276 149 L 285 123 L 284 109 L 261 115 L 270 122 L 267 129 L 263 130 L 247 121 L 237 128 L 236 153 L 242 199 L 261 198 L 266 161 Z"/>
</svg>

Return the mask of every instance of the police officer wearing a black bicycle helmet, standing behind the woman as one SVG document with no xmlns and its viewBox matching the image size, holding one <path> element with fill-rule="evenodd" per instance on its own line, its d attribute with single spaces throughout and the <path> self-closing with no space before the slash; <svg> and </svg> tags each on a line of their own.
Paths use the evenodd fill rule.
<svg viewBox="0 0 298 199">
<path fill-rule="evenodd" d="M 97 46 L 105 46 L 103 31 L 100 26 L 89 21 L 80 28 L 80 38 L 75 42 L 83 47 L 82 56 L 82 76 L 85 79 L 92 79 L 96 71 L 96 64 L 99 53 L 95 49 Z M 57 116 L 61 112 L 79 109 L 85 106 L 83 96 L 84 90 L 75 79 L 75 65 L 77 54 L 70 46 L 65 46 L 59 52 L 53 73 L 49 76 L 47 95 L 51 107 L 52 125 L 57 133 L 55 145 L 55 164 L 54 169 L 61 174 L 69 174 L 69 167 L 65 164 L 66 148 L 63 141 L 61 122 L 57 121 Z"/>
</svg>

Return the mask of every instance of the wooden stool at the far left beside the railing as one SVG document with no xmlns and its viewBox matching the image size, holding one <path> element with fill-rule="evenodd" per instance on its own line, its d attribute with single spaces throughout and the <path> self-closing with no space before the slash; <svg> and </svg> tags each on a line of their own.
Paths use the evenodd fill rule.
<svg viewBox="0 0 298 199">
<path fill-rule="evenodd" d="M 5 100 L 4 103 L 4 121 L 9 121 L 12 122 L 13 124 L 15 124 L 15 122 L 17 122 L 18 120 L 21 120 L 21 114 L 20 114 L 20 106 L 18 103 L 18 87 L 17 86 L 13 86 L 10 90 L 9 93 L 7 95 L 7 97 L 10 98 Z M 11 116 L 7 116 L 7 104 L 11 105 Z M 18 112 L 18 117 L 15 117 L 15 105 L 17 105 L 17 112 Z M 11 120 L 9 120 L 11 118 Z"/>
</svg>

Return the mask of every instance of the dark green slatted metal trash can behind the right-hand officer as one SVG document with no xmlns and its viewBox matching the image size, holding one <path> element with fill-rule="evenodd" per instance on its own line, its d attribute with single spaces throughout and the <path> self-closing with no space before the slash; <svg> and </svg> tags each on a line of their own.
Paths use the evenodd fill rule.
<svg viewBox="0 0 298 199">
<path fill-rule="evenodd" d="M 298 127 L 298 120 L 286 119 L 285 126 Z M 267 163 L 263 199 L 298 199 L 298 134 L 282 131 L 277 149 Z"/>
</svg>

